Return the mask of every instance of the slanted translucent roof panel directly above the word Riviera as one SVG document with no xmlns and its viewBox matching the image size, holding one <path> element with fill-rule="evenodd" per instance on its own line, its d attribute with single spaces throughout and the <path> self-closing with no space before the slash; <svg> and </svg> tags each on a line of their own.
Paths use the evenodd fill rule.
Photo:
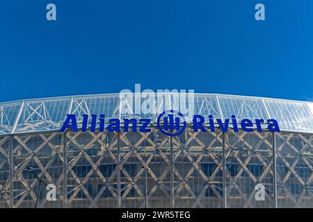
<svg viewBox="0 0 313 222">
<path fill-rule="evenodd" d="M 223 117 L 230 119 L 232 114 L 241 119 L 268 119 L 262 99 L 238 96 L 218 96 Z"/>
</svg>

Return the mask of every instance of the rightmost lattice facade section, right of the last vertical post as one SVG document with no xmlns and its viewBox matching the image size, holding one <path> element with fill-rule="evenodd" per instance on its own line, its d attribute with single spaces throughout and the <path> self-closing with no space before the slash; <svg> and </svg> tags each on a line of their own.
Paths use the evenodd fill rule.
<svg viewBox="0 0 313 222">
<path fill-rule="evenodd" d="M 313 135 L 277 134 L 278 200 L 282 207 L 313 203 Z M 302 175 L 301 175 L 302 173 Z M 304 174 L 303 174 L 304 173 Z"/>
</svg>

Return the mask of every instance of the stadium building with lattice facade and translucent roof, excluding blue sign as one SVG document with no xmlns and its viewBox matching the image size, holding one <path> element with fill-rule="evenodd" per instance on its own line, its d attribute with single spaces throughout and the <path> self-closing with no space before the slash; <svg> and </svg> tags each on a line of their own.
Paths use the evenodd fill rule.
<svg viewBox="0 0 313 222">
<path fill-rule="evenodd" d="M 122 121 L 127 103 L 120 94 L 0 103 L 0 207 L 34 207 L 37 198 L 38 207 L 313 207 L 313 103 L 193 96 L 195 114 L 276 119 L 280 132 L 203 133 L 190 124 L 175 137 L 153 124 L 147 133 L 60 132 L 67 114 Z M 29 167 L 55 185 L 55 200 Z"/>
</svg>

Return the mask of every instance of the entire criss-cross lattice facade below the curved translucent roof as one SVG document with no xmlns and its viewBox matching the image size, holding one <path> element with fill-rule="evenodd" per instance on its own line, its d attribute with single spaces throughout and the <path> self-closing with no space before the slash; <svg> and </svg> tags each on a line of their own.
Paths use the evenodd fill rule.
<svg viewBox="0 0 313 222">
<path fill-rule="evenodd" d="M 12 136 L 14 207 L 33 207 L 35 203 L 38 182 L 27 173 L 29 166 L 36 169 L 45 182 L 57 186 L 56 204 L 49 203 L 42 191 L 39 207 L 62 207 L 65 197 L 68 207 L 115 207 L 118 198 L 118 135 L 66 133 L 65 163 L 62 137 L 61 133 Z M 312 206 L 313 136 L 277 133 L 275 137 L 278 206 Z M 222 133 L 186 130 L 179 137 L 172 137 L 171 141 L 175 203 L 179 207 L 222 207 Z M 10 136 L 1 137 L 0 172 L 6 172 L 6 180 L 0 182 L 0 201 L 7 207 L 10 205 L 9 147 Z M 145 207 L 145 169 L 142 166 L 149 168 L 148 205 L 170 207 L 170 137 L 154 130 L 150 133 L 120 133 L 120 156 L 122 207 Z M 227 206 L 273 207 L 273 134 L 229 131 L 225 134 L 225 157 Z M 66 175 L 63 164 L 67 166 Z M 214 168 L 210 172 L 204 171 L 204 164 L 214 164 Z M 232 169 L 234 165 L 236 169 Z M 111 166 L 111 170 L 104 166 Z M 254 171 L 251 166 L 261 170 Z M 82 174 L 83 170 L 86 172 Z M 65 176 L 66 195 L 63 193 Z M 266 187 L 264 203 L 255 201 L 257 183 Z M 295 191 L 293 186 L 299 190 Z M 157 201 L 163 202 L 157 205 Z M 210 201 L 214 201 L 214 205 Z"/>
</svg>

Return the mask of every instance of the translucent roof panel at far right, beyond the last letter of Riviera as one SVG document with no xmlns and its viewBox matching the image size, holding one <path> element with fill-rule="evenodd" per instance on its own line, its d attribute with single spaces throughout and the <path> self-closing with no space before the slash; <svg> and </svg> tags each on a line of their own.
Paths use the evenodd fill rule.
<svg viewBox="0 0 313 222">
<path fill-rule="evenodd" d="M 306 103 L 274 99 L 264 102 L 269 116 L 280 124 L 280 130 L 313 132 L 313 117 Z"/>
</svg>

